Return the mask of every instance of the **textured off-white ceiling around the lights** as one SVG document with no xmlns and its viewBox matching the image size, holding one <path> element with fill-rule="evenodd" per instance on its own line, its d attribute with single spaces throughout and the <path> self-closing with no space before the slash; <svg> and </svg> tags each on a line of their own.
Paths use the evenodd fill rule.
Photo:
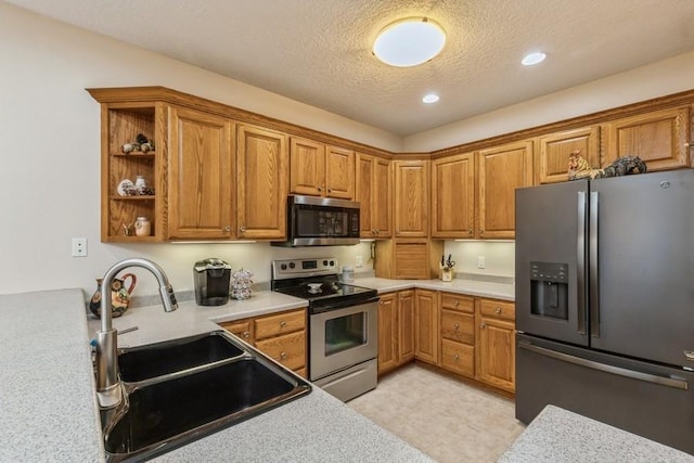
<svg viewBox="0 0 694 463">
<path fill-rule="evenodd" d="M 8 2 L 399 136 L 694 50 L 694 0 Z M 378 62 L 376 34 L 412 15 L 444 26 L 441 54 Z M 441 101 L 421 103 L 429 91 Z"/>
</svg>

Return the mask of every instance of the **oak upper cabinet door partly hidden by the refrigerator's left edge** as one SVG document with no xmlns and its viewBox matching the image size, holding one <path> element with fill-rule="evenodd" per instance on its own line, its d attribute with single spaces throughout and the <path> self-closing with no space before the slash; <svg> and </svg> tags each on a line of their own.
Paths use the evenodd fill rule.
<svg viewBox="0 0 694 463">
<path fill-rule="evenodd" d="M 525 140 L 479 152 L 478 237 L 515 237 L 515 190 L 532 183 L 532 146 Z"/>
</svg>

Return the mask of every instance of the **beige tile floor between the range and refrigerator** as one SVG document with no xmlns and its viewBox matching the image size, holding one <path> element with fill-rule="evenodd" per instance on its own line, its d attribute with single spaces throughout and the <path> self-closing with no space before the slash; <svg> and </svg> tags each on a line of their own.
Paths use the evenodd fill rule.
<svg viewBox="0 0 694 463">
<path fill-rule="evenodd" d="M 524 429 L 513 400 L 420 363 L 347 404 L 441 463 L 494 462 Z"/>
</svg>

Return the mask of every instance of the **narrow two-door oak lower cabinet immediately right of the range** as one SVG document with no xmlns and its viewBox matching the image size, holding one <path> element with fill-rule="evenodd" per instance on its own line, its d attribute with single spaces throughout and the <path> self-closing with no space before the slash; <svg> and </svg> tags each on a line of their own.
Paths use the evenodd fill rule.
<svg viewBox="0 0 694 463">
<path fill-rule="evenodd" d="M 414 290 L 381 295 L 378 374 L 414 359 Z"/>
</svg>

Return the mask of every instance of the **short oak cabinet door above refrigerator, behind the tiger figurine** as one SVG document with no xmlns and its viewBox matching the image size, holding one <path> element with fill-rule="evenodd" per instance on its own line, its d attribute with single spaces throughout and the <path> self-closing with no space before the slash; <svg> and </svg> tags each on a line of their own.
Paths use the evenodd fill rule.
<svg viewBox="0 0 694 463">
<path fill-rule="evenodd" d="M 540 137 L 535 158 L 535 184 L 568 181 L 568 155 L 581 156 L 594 168 L 600 167 L 600 127 L 584 127 Z"/>
</svg>

